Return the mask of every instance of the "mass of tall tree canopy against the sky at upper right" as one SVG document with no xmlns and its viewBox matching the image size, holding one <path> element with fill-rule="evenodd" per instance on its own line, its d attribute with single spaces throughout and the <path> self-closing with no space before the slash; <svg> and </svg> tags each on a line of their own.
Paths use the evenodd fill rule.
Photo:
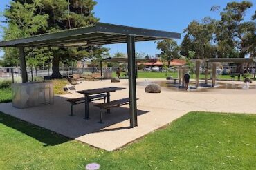
<svg viewBox="0 0 256 170">
<path fill-rule="evenodd" d="M 256 12 L 250 21 L 245 21 L 252 6 L 249 1 L 227 3 L 221 11 L 219 6 L 213 6 L 211 10 L 219 11 L 221 19 L 205 17 L 202 21 L 192 21 L 184 30 L 181 54 L 188 56 L 189 51 L 194 51 L 195 58 L 255 56 Z"/>
</svg>

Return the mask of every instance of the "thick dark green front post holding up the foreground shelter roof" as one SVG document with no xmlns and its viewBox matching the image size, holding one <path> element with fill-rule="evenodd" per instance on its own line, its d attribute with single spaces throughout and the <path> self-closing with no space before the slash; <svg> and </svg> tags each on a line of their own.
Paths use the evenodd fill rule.
<svg viewBox="0 0 256 170">
<path fill-rule="evenodd" d="M 138 126 L 136 96 L 135 37 L 127 36 L 128 74 L 129 74 L 129 114 L 131 127 Z"/>
</svg>

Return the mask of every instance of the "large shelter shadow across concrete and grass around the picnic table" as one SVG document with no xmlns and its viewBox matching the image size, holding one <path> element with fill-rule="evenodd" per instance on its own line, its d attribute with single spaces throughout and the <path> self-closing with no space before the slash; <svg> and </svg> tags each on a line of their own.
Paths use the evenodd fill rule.
<svg viewBox="0 0 256 170">
<path fill-rule="evenodd" d="M 74 105 L 74 116 L 69 116 L 71 106 L 70 103 L 66 102 L 66 99 L 69 97 L 68 95 L 55 96 L 53 105 L 40 105 L 39 107 L 28 109 L 16 109 L 11 104 L 7 105 L 1 111 L 10 116 L 0 114 L 0 123 L 35 138 L 39 142 L 44 143 L 45 146 L 59 145 L 71 140 L 71 138 L 79 138 L 86 134 L 130 128 L 129 108 L 114 107 L 111 109 L 110 114 L 104 114 L 104 123 L 98 123 L 100 120 L 100 109 L 93 106 L 95 103 L 89 103 L 89 120 L 84 120 L 84 103 Z M 102 102 L 103 100 L 99 101 L 99 103 Z M 148 112 L 138 110 L 138 116 Z"/>
</svg>

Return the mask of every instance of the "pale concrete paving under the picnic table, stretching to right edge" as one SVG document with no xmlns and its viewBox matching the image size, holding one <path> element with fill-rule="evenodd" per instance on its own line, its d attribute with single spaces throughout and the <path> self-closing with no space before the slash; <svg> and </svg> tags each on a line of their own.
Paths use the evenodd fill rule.
<svg viewBox="0 0 256 170">
<path fill-rule="evenodd" d="M 159 81 L 159 79 L 150 81 Z M 143 83 L 145 79 L 138 79 L 138 82 Z M 84 81 L 76 88 L 77 90 L 99 87 L 128 88 L 127 85 L 127 80 L 122 80 L 121 83 L 111 83 L 109 80 Z M 133 129 L 129 128 L 129 105 L 111 109 L 111 114 L 104 114 L 104 124 L 98 123 L 100 110 L 93 107 L 93 103 L 89 105 L 90 120 L 83 119 L 83 104 L 74 106 L 75 116 L 68 116 L 70 105 L 65 99 L 81 96 L 75 92 L 55 96 L 54 105 L 16 109 L 12 107 L 11 103 L 3 103 L 0 104 L 0 111 L 107 151 L 113 151 L 145 136 L 189 111 L 256 113 L 256 89 L 174 92 L 163 88 L 161 94 L 147 94 L 144 90 L 145 86 L 137 86 L 137 97 L 140 98 L 138 100 L 138 127 Z M 129 91 L 125 89 L 111 93 L 111 100 L 128 96 Z"/>
</svg>

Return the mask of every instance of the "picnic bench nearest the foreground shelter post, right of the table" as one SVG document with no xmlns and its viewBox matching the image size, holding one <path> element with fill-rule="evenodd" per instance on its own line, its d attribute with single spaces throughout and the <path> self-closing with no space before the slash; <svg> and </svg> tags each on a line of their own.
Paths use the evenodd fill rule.
<svg viewBox="0 0 256 170">
<path fill-rule="evenodd" d="M 128 105 L 128 104 L 129 104 L 129 98 L 122 98 L 122 99 L 119 99 L 119 100 L 113 100 L 109 103 L 95 104 L 94 106 L 100 108 L 100 123 L 103 123 L 102 122 L 102 116 L 103 116 L 102 114 L 103 114 L 104 110 L 111 109 L 113 107 L 120 107 L 122 105 Z"/>
</svg>

